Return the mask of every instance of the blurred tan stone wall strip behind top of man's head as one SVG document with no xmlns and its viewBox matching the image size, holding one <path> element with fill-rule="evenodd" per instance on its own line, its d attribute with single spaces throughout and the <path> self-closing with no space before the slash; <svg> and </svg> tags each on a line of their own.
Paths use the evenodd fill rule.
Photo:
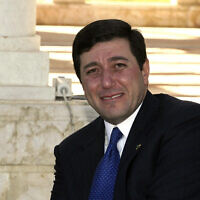
<svg viewBox="0 0 200 200">
<path fill-rule="evenodd" d="M 37 5 L 37 24 L 80 25 L 104 18 L 120 18 L 133 26 L 200 27 L 199 0 L 177 4 L 87 4 L 83 0 L 54 0 Z"/>
</svg>

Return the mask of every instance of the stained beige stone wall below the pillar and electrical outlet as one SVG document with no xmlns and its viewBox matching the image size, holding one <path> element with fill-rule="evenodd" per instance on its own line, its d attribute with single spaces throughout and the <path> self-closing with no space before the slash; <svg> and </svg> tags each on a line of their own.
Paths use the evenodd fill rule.
<svg viewBox="0 0 200 200">
<path fill-rule="evenodd" d="M 97 116 L 85 101 L 69 106 L 71 111 L 62 101 L 0 102 L 1 200 L 50 198 L 54 146 Z"/>
</svg>

